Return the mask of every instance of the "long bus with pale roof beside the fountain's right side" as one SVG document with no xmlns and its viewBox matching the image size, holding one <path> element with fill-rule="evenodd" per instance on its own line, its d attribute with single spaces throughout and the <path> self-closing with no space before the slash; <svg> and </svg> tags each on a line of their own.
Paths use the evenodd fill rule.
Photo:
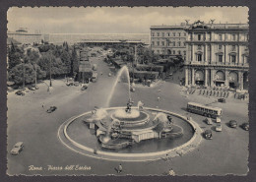
<svg viewBox="0 0 256 182">
<path fill-rule="evenodd" d="M 220 118 L 222 117 L 223 110 L 219 107 L 207 106 L 201 103 L 188 102 L 187 103 L 187 111 L 201 114 L 210 118 Z"/>
</svg>

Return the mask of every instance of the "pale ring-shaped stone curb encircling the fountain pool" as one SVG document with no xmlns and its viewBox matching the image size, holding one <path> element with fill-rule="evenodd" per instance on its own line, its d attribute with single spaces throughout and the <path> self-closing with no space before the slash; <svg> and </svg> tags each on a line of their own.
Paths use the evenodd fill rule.
<svg viewBox="0 0 256 182">
<path fill-rule="evenodd" d="M 125 107 L 109 107 L 106 110 L 111 110 L 111 109 L 118 109 L 118 108 L 125 108 Z M 135 108 L 135 107 L 134 107 Z M 170 157 L 174 157 L 177 155 L 182 155 L 186 152 L 191 152 L 193 151 L 202 141 L 202 137 L 201 137 L 201 133 L 202 133 L 202 129 L 198 126 L 197 123 L 195 123 L 194 121 L 189 121 L 186 119 L 186 117 L 170 112 L 170 111 L 166 111 L 166 110 L 161 110 L 161 109 L 156 109 L 156 108 L 151 108 L 151 107 L 144 107 L 147 110 L 152 110 L 152 111 L 159 111 L 159 112 L 163 112 L 163 113 L 167 113 L 173 116 L 176 116 L 184 121 L 186 121 L 188 124 L 190 124 L 192 126 L 192 128 L 194 129 L 194 135 L 193 137 L 186 142 L 185 144 L 171 149 L 171 150 L 165 150 L 165 151 L 161 151 L 161 152 L 148 152 L 148 153 L 117 153 L 117 152 L 102 152 L 102 151 L 97 151 L 97 154 L 94 153 L 94 149 L 88 148 L 86 146 L 83 146 L 75 141 L 73 141 L 67 134 L 67 128 L 69 127 L 69 125 L 74 122 L 75 119 L 87 115 L 89 113 L 91 113 L 91 111 L 89 112 L 85 112 L 83 114 L 80 114 L 78 116 L 74 116 L 70 119 L 68 119 L 67 121 L 65 121 L 58 130 L 58 138 L 60 139 L 60 141 L 66 146 L 68 147 L 70 150 L 75 151 L 75 152 L 79 152 L 81 154 L 84 155 L 88 155 L 91 157 L 96 157 L 96 158 L 100 158 L 100 159 L 106 159 L 106 160 L 118 160 L 118 161 L 148 161 L 148 160 L 156 160 L 156 159 L 160 159 L 162 157 L 166 157 L 166 154 L 168 153 L 168 155 Z M 62 133 L 63 131 L 63 133 Z M 68 143 L 71 143 L 71 145 L 68 145 L 67 142 L 64 142 L 64 140 L 67 140 Z M 72 146 L 72 147 L 71 147 Z M 74 149 L 77 148 L 77 149 Z M 80 152 L 82 150 L 82 152 Z"/>
</svg>

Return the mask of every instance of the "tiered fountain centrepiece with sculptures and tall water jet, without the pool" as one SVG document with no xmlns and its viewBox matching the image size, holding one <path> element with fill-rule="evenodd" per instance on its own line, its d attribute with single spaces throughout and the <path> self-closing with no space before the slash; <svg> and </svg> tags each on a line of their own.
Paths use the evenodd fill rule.
<svg viewBox="0 0 256 182">
<path fill-rule="evenodd" d="M 112 91 L 107 98 L 109 106 L 112 94 L 121 77 L 125 73 L 128 81 L 129 99 L 126 107 L 96 108 L 91 116 L 85 119 L 90 129 L 96 131 L 96 137 L 103 149 L 119 150 L 139 144 L 144 140 L 169 138 L 183 135 L 182 128 L 173 125 L 171 116 L 162 112 L 144 109 L 144 103 L 139 101 L 137 107 L 130 92 L 130 77 L 128 68 L 123 67 L 117 74 Z"/>
</svg>

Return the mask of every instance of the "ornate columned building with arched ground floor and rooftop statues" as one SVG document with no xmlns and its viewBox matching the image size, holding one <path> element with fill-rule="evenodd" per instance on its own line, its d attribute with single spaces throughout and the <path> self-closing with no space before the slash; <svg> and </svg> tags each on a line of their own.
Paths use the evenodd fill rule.
<svg viewBox="0 0 256 182">
<path fill-rule="evenodd" d="M 248 24 L 187 27 L 185 85 L 248 90 Z"/>
</svg>

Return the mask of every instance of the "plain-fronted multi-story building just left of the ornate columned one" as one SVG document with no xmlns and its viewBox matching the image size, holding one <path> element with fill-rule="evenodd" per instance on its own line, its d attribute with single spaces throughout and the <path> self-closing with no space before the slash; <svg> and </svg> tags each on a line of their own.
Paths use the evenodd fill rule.
<svg viewBox="0 0 256 182">
<path fill-rule="evenodd" d="M 151 47 L 154 53 L 160 55 L 186 56 L 185 24 L 180 26 L 152 26 Z"/>
</svg>

